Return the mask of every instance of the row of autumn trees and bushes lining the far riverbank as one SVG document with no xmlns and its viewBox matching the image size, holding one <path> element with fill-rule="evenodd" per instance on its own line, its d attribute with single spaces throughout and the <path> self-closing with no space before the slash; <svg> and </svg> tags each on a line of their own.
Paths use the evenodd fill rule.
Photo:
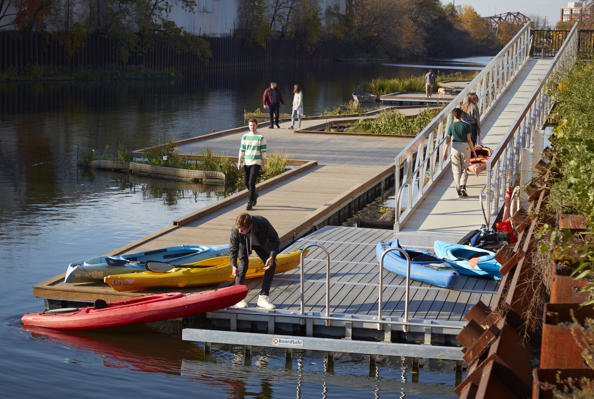
<svg viewBox="0 0 594 399">
<path fill-rule="evenodd" d="M 46 42 L 58 40 L 67 58 L 84 47 L 90 35 L 99 35 L 115 40 L 115 56 L 124 63 L 157 43 L 208 61 L 213 55 L 208 42 L 176 23 L 180 13 L 200 11 L 204 5 L 200 4 L 196 0 L 3 0 L 0 29 L 42 33 Z M 321 40 L 337 39 L 370 58 L 396 58 L 465 56 L 497 50 L 502 40 L 507 42 L 472 7 L 442 5 L 439 0 L 347 0 L 342 9 L 324 9 L 318 0 L 239 0 L 237 7 L 238 26 L 229 34 L 247 39 L 248 46 L 292 39 L 296 47 L 311 51 Z M 510 27 L 511 34 L 515 31 L 517 27 Z"/>
</svg>

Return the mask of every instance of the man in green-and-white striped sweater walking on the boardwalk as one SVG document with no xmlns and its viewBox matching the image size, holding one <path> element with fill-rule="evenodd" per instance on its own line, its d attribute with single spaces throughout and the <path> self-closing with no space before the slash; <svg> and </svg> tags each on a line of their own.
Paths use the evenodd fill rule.
<svg viewBox="0 0 594 399">
<path fill-rule="evenodd" d="M 249 133 L 241 138 L 237 169 L 241 169 L 241 161 L 244 160 L 244 183 L 248 188 L 248 206 L 245 210 L 251 211 L 258 201 L 258 194 L 256 194 L 258 173 L 266 169 L 266 138 L 258 133 L 256 119 L 249 119 L 248 126 Z"/>
</svg>

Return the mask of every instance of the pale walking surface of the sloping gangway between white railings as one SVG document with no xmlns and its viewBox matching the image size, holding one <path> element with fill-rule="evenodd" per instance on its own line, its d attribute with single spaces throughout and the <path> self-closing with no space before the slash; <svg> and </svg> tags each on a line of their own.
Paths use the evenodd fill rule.
<svg viewBox="0 0 594 399">
<path fill-rule="evenodd" d="M 551 61 L 528 61 L 492 112 L 481 121 L 483 144 L 495 150 L 522 107 L 532 96 Z M 451 172 L 445 173 L 401 231 L 466 234 L 477 229 L 485 223 L 479 199 L 479 192 L 485 182 L 486 172 L 482 172 L 478 177 L 474 174 L 469 175 L 466 185 L 468 197 L 457 198 L 453 175 Z"/>
</svg>

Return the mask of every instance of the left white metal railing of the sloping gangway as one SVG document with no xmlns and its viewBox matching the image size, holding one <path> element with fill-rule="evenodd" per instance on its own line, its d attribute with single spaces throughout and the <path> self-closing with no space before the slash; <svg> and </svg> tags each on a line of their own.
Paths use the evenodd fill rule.
<svg viewBox="0 0 594 399">
<path fill-rule="evenodd" d="M 397 189 L 394 231 L 399 232 L 402 229 L 403 224 L 429 194 L 435 182 L 447 170 L 445 166 L 448 166 L 450 160 L 445 162 L 441 159 L 437 160 L 437 156 L 440 154 L 441 157 L 443 154 L 445 134 L 452 122 L 453 109 L 461 106 L 467 95 L 474 91 L 479 97 L 478 107 L 479 112 L 482 113 L 481 118 L 491 113 L 503 93 L 515 80 L 518 72 L 526 65 L 530 58 L 531 43 L 530 22 L 528 22 L 472 82 L 395 157 Z M 416 160 L 414 160 L 415 157 Z M 400 185 L 401 167 L 403 168 L 402 185 Z M 415 195 L 417 185 L 418 193 Z M 406 209 L 400 213 L 405 187 L 408 188 Z"/>
</svg>

